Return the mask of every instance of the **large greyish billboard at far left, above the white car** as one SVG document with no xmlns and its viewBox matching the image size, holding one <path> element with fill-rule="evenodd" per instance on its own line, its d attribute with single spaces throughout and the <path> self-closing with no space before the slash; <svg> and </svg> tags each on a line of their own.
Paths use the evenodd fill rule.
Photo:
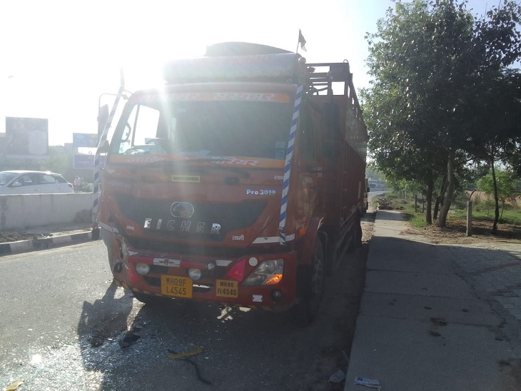
<svg viewBox="0 0 521 391">
<path fill-rule="evenodd" d="M 48 147 L 47 118 L 6 117 L 7 158 L 47 158 Z"/>
</svg>

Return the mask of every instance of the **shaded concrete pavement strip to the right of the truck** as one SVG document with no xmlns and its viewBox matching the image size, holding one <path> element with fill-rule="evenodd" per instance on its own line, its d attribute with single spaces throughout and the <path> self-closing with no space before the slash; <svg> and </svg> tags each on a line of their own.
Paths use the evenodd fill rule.
<svg viewBox="0 0 521 391">
<path fill-rule="evenodd" d="M 521 246 L 434 245 L 378 210 L 345 391 L 521 390 Z"/>
</svg>

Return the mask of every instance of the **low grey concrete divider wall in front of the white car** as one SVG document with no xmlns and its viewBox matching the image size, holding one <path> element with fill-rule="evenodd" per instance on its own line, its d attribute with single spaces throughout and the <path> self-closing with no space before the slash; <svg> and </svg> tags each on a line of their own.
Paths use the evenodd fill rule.
<svg viewBox="0 0 521 391">
<path fill-rule="evenodd" d="M 76 223 L 89 218 L 92 193 L 0 195 L 0 229 Z"/>
</svg>

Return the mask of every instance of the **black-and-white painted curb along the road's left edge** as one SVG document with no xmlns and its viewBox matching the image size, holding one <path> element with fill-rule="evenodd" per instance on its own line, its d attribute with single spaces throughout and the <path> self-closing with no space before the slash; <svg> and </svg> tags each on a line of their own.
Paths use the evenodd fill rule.
<svg viewBox="0 0 521 391">
<path fill-rule="evenodd" d="M 59 235 L 48 238 L 36 238 L 29 240 L 19 240 L 18 242 L 0 243 L 0 257 L 29 251 L 47 250 L 49 248 L 61 247 L 77 243 L 84 243 L 92 240 L 91 232 L 72 233 L 70 235 Z"/>
</svg>

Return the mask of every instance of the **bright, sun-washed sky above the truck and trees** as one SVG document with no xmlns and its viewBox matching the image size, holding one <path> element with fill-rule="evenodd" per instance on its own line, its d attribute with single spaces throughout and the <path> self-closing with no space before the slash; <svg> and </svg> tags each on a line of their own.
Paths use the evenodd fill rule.
<svg viewBox="0 0 521 391">
<path fill-rule="evenodd" d="M 499 0 L 470 0 L 483 14 Z M 0 2 L 0 133 L 5 117 L 49 118 L 49 145 L 96 133 L 98 98 L 146 86 L 161 61 L 201 56 L 207 45 L 246 41 L 295 51 L 308 62 L 350 63 L 368 86 L 366 32 L 390 0 L 3 0 Z M 102 103 L 113 97 L 104 96 Z"/>
</svg>

